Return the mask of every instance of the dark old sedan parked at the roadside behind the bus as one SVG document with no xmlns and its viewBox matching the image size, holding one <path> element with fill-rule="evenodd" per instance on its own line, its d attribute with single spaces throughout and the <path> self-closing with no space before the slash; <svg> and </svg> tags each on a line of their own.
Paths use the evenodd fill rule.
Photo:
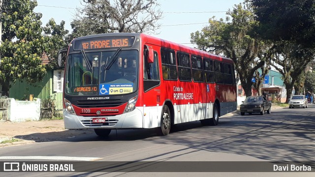
<svg viewBox="0 0 315 177">
<path fill-rule="evenodd" d="M 248 96 L 240 105 L 241 115 L 245 113 L 260 113 L 263 115 L 265 111 L 267 114 L 271 113 L 271 101 L 268 101 L 264 96 Z"/>
</svg>

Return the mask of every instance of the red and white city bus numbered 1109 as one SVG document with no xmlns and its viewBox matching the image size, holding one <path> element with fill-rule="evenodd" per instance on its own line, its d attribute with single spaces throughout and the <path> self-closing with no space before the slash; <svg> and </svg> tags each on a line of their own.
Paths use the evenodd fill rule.
<svg viewBox="0 0 315 177">
<path fill-rule="evenodd" d="M 59 54 L 58 63 L 62 63 Z M 64 62 L 66 129 L 157 128 L 200 120 L 217 125 L 236 110 L 231 59 L 140 33 L 73 39 Z"/>
</svg>

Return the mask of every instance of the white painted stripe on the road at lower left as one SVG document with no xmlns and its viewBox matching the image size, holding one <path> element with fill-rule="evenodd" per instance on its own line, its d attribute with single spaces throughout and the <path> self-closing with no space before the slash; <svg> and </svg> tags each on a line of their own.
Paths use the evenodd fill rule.
<svg viewBox="0 0 315 177">
<path fill-rule="evenodd" d="M 68 157 L 68 156 L 0 156 L 2 160 L 70 160 L 70 161 L 95 161 L 103 158 L 99 157 Z"/>
</svg>

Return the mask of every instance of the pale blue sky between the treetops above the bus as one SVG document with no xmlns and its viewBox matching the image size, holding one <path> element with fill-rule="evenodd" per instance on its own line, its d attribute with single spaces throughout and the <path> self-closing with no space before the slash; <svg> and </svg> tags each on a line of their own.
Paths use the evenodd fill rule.
<svg viewBox="0 0 315 177">
<path fill-rule="evenodd" d="M 82 7 L 81 0 L 37 0 L 34 11 L 42 13 L 43 26 L 54 18 L 57 24 L 65 21 L 65 29 L 72 31 L 70 23 L 74 19 L 77 7 Z M 243 0 L 158 0 L 163 11 L 163 19 L 158 23 L 160 29 L 155 37 L 180 43 L 189 47 L 190 33 L 207 26 L 209 18 L 225 19 L 225 13 Z"/>
</svg>

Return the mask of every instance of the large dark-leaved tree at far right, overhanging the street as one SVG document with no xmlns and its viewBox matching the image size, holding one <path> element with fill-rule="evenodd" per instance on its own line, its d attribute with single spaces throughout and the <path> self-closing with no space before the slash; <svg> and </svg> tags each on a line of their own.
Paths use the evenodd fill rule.
<svg viewBox="0 0 315 177">
<path fill-rule="evenodd" d="M 314 0 L 251 0 L 255 28 L 263 39 L 275 43 L 273 66 L 283 75 L 286 102 L 295 93 L 303 92 L 304 69 L 315 54 Z"/>
</svg>

